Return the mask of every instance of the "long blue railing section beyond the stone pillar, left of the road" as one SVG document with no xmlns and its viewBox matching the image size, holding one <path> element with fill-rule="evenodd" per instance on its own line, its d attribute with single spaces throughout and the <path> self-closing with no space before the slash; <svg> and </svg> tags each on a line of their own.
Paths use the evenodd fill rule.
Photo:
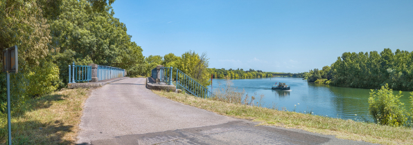
<svg viewBox="0 0 413 145">
<path fill-rule="evenodd" d="M 117 77 L 125 77 L 125 70 L 112 66 L 98 66 L 98 81 L 105 79 L 113 79 Z"/>
</svg>

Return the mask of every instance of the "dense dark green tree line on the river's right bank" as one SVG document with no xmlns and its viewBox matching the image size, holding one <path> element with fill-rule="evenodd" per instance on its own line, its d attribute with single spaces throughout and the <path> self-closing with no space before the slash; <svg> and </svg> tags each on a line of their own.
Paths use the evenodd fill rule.
<svg viewBox="0 0 413 145">
<path fill-rule="evenodd" d="M 353 88 L 413 90 L 413 51 L 344 52 L 331 66 L 306 72 L 308 82 Z"/>
</svg>

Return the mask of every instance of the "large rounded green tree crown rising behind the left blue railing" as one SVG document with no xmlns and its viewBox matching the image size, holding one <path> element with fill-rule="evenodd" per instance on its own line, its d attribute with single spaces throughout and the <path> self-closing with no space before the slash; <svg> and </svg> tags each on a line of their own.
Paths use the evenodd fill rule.
<svg viewBox="0 0 413 145">
<path fill-rule="evenodd" d="M 129 70 L 142 64 L 141 47 L 130 41 L 125 24 L 114 17 L 112 7 L 100 12 L 91 10 L 90 5 L 85 0 L 62 2 L 61 14 L 51 22 L 53 46 L 60 52 L 73 50 L 80 59 L 90 57 L 98 65 Z"/>
</svg>

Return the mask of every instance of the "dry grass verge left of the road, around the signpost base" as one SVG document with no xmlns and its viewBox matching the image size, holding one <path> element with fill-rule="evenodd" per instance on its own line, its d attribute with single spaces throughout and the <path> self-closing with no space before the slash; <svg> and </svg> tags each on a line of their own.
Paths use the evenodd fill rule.
<svg viewBox="0 0 413 145">
<path fill-rule="evenodd" d="M 89 90 L 62 90 L 12 108 L 12 144 L 74 144 Z M 0 144 L 8 140 L 7 114 L 1 114 Z"/>
</svg>

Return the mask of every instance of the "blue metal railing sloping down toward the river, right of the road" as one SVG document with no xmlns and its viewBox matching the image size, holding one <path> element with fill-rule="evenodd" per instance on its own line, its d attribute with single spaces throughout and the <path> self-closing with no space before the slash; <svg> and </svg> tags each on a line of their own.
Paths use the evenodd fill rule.
<svg viewBox="0 0 413 145">
<path fill-rule="evenodd" d="M 209 91 L 207 87 L 202 86 L 178 68 L 177 77 L 175 80 L 177 89 L 184 89 L 196 97 L 209 98 L 213 96 L 213 93 Z"/>
</svg>

